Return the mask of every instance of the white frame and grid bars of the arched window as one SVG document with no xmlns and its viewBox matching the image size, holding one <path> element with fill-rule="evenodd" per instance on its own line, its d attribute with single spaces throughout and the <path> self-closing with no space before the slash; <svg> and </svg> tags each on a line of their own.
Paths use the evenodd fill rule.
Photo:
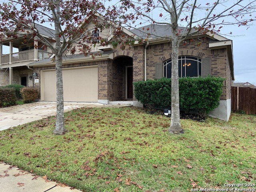
<svg viewBox="0 0 256 192">
<path fill-rule="evenodd" d="M 187 58 L 187 57 L 190 57 L 190 58 Z M 195 59 L 192 59 L 192 58 L 195 58 Z M 197 76 L 194 76 L 194 77 L 192 77 L 192 78 L 197 78 L 197 77 L 200 77 L 200 76 L 202 76 L 202 58 L 199 58 L 199 57 L 195 57 L 195 56 L 190 56 L 190 55 L 186 55 L 186 56 L 179 56 L 178 57 L 178 62 L 179 61 L 181 61 L 180 62 L 180 76 L 179 76 L 179 78 L 182 78 L 182 77 L 187 77 L 186 76 L 186 68 L 187 68 L 187 66 L 185 65 L 184 66 L 184 70 L 185 70 L 185 75 L 184 76 L 182 76 L 183 75 L 183 73 L 182 73 L 182 61 L 185 61 L 184 63 L 187 63 L 186 62 L 186 60 L 192 60 L 192 61 L 196 61 L 197 62 Z M 163 63 L 163 77 L 166 77 L 167 78 L 167 65 L 168 64 L 171 64 L 171 66 L 172 66 L 172 59 L 168 59 L 168 60 L 166 60 L 164 63 Z M 199 64 L 201 64 L 201 75 L 199 74 Z M 166 71 L 166 73 L 164 74 L 164 70 Z M 172 73 L 172 72 L 171 72 Z M 172 74 L 170 75 L 171 76 L 171 78 L 172 78 Z"/>
</svg>

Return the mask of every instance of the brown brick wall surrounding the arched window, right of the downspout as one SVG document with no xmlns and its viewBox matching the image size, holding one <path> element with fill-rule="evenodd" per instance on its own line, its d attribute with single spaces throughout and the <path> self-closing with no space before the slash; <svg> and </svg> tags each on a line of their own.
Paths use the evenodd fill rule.
<svg viewBox="0 0 256 192">
<path fill-rule="evenodd" d="M 202 44 L 187 40 L 186 45 L 180 45 L 179 56 L 195 56 L 199 58 L 211 58 L 211 75 L 225 78 L 222 100 L 231 98 L 231 76 L 228 55 L 225 48 L 210 50 L 209 39 L 204 38 Z M 171 58 L 172 44 L 162 43 L 150 45 L 147 48 L 147 79 L 155 78 L 156 63 L 164 62 Z"/>
</svg>

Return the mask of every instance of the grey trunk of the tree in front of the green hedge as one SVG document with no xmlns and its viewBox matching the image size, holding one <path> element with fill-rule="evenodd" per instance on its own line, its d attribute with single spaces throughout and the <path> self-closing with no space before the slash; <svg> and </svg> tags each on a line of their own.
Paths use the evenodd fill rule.
<svg viewBox="0 0 256 192">
<path fill-rule="evenodd" d="M 180 42 L 175 36 L 172 38 L 172 114 L 169 132 L 172 134 L 184 133 L 180 126 L 180 99 L 179 99 L 179 68 L 178 53 Z"/>
</svg>

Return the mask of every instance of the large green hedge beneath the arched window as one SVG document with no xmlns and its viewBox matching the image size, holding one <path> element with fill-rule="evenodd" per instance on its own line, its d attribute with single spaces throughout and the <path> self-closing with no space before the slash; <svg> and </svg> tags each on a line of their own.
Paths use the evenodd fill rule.
<svg viewBox="0 0 256 192">
<path fill-rule="evenodd" d="M 210 76 L 180 78 L 180 109 L 198 110 L 200 115 L 206 116 L 219 105 L 223 81 L 224 78 Z M 171 79 L 134 82 L 134 88 L 138 101 L 150 108 L 171 106 Z"/>
</svg>

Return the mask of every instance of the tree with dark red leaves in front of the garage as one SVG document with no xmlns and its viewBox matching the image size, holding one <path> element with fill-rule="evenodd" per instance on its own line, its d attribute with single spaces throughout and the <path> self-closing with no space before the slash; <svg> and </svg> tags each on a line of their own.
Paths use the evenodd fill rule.
<svg viewBox="0 0 256 192">
<path fill-rule="evenodd" d="M 36 39 L 48 46 L 55 54 L 56 85 L 57 85 L 57 118 L 55 134 L 64 134 L 64 101 L 62 82 L 62 56 L 70 51 L 74 54 L 76 49 L 85 55 L 90 53 L 92 42 L 91 29 L 84 25 L 90 18 L 96 28 L 104 28 L 97 20 L 97 12 L 102 12 L 104 5 L 97 0 L 10 0 L 0 4 L 0 40 L 24 36 L 24 29 L 30 30 L 30 38 Z M 54 26 L 55 42 L 52 45 L 38 31 L 36 24 Z M 19 30 L 14 30 L 18 28 Z M 104 42 L 104 41 L 103 41 Z M 93 43 L 93 42 L 92 42 Z M 91 43 L 91 44 L 92 44 Z M 91 54 L 91 53 L 90 53 Z"/>
</svg>

